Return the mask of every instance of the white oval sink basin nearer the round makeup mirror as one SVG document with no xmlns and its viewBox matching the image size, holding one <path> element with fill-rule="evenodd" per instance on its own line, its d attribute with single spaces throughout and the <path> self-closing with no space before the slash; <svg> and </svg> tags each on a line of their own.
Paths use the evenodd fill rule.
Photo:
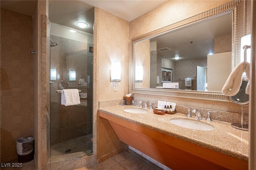
<svg viewBox="0 0 256 170">
<path fill-rule="evenodd" d="M 211 125 L 189 119 L 170 119 L 170 122 L 174 125 L 194 130 L 214 130 L 214 127 Z"/>
</svg>

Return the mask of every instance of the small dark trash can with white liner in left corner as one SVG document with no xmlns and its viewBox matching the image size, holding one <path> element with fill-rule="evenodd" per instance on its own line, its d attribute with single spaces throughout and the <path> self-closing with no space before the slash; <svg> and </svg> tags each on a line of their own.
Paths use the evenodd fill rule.
<svg viewBox="0 0 256 170">
<path fill-rule="evenodd" d="M 34 138 L 18 138 L 17 141 L 18 162 L 25 163 L 34 159 Z"/>
</svg>

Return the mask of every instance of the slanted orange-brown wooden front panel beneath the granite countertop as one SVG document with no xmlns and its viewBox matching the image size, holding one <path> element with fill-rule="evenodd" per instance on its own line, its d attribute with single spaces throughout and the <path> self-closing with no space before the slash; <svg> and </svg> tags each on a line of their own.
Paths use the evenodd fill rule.
<svg viewBox="0 0 256 170">
<path fill-rule="evenodd" d="M 99 111 L 122 142 L 173 170 L 248 170 L 248 162 Z"/>
</svg>

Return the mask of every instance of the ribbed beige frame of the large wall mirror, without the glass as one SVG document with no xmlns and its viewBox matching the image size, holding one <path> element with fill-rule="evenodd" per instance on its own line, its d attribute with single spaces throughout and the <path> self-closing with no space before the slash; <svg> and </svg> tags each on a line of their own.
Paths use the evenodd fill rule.
<svg viewBox="0 0 256 170">
<path fill-rule="evenodd" d="M 195 24 L 197 22 L 207 20 L 225 13 L 232 12 L 232 69 L 240 63 L 240 44 L 241 38 L 246 34 L 246 0 L 234 0 L 217 6 L 180 22 L 176 22 L 169 26 L 154 30 L 132 38 L 130 41 L 130 75 L 129 75 L 129 93 L 139 93 L 147 95 L 160 95 L 170 97 L 182 97 L 189 99 L 204 99 L 211 101 L 232 102 L 228 96 L 222 92 L 211 91 L 192 91 L 192 90 L 173 90 L 173 89 L 150 89 L 135 88 L 135 50 L 136 42 L 148 40 L 163 34 L 170 33 L 174 30 Z"/>
</svg>

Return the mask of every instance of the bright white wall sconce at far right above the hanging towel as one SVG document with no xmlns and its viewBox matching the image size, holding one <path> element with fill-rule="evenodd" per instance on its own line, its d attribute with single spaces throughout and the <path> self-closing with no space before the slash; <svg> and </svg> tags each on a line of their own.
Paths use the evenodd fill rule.
<svg viewBox="0 0 256 170">
<path fill-rule="evenodd" d="M 246 36 L 243 36 L 242 38 L 241 38 L 241 49 L 240 49 L 240 62 L 243 62 L 244 61 L 244 49 L 243 49 L 243 47 L 245 46 L 245 45 L 248 45 L 248 46 L 250 46 L 251 45 L 251 34 L 248 34 L 248 35 L 246 35 Z M 248 62 L 248 63 L 251 63 L 251 49 L 250 48 L 247 48 L 247 50 L 246 50 L 246 61 Z"/>
</svg>

